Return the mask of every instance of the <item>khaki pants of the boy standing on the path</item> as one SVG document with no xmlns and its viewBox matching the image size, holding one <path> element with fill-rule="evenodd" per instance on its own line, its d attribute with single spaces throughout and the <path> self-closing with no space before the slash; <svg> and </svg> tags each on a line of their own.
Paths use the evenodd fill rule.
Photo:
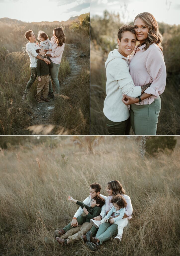
<svg viewBox="0 0 180 256">
<path fill-rule="evenodd" d="M 46 99 L 49 92 L 49 75 L 41 76 L 41 82 L 37 83 L 36 98 L 41 98 L 41 91 L 43 90 L 43 98 Z"/>
</svg>

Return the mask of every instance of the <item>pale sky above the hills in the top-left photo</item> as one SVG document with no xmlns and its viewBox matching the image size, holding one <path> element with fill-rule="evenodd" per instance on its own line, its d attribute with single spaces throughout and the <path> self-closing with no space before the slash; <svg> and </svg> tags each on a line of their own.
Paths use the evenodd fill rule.
<svg viewBox="0 0 180 256">
<path fill-rule="evenodd" d="M 66 21 L 89 9 L 89 0 L 0 0 L 0 18 L 23 22 Z"/>
</svg>

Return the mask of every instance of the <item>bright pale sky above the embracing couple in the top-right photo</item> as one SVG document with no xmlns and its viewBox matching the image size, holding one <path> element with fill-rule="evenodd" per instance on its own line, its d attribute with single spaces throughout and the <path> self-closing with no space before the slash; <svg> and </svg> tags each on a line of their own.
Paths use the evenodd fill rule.
<svg viewBox="0 0 180 256">
<path fill-rule="evenodd" d="M 148 12 L 158 22 L 170 25 L 180 24 L 179 0 L 91 0 L 91 17 L 103 16 L 105 9 L 110 13 L 119 13 L 124 23 L 134 21 L 135 16 L 139 13 Z"/>
</svg>

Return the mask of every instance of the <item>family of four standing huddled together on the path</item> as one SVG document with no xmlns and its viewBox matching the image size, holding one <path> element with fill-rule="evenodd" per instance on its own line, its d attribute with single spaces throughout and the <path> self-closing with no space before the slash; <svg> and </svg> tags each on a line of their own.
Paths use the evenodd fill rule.
<svg viewBox="0 0 180 256">
<path fill-rule="evenodd" d="M 28 91 L 38 77 L 36 101 L 49 102 L 50 99 L 55 99 L 52 78 L 56 93 L 59 92 L 58 72 L 61 63 L 62 53 L 65 47 L 65 35 L 62 28 L 58 27 L 53 30 L 53 36 L 49 40 L 48 35 L 44 31 L 39 31 L 35 43 L 36 36 L 32 30 L 28 30 L 24 34 L 29 40 L 26 45 L 26 52 L 30 57 L 31 77 L 27 83 L 22 100 L 27 98 Z"/>
</svg>

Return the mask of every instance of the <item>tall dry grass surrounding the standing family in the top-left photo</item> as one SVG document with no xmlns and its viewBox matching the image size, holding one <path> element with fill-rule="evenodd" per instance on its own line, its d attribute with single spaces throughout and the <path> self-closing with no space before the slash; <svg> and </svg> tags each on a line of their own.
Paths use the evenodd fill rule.
<svg viewBox="0 0 180 256">
<path fill-rule="evenodd" d="M 63 88 L 65 79 L 70 76 L 70 63 L 67 59 L 69 47 L 65 44 L 58 79 L 60 82 L 61 94 L 72 94 L 73 111 L 69 104 L 62 98 L 57 98 L 55 109 L 52 110 L 51 127 L 45 127 L 46 133 L 43 134 L 62 134 L 62 130 L 67 134 L 89 134 L 89 38 L 83 34 L 73 32 L 69 29 L 70 22 L 40 22 L 40 23 L 17 23 L 14 20 L 0 21 L 0 134 L 2 135 L 29 135 L 34 132 L 32 105 L 34 104 L 34 96 L 37 89 L 37 79 L 33 83 L 28 99 L 22 101 L 25 86 L 30 78 L 30 61 L 29 56 L 23 52 L 27 39 L 24 37 L 25 31 L 32 29 L 37 36 L 38 30 L 44 30 L 49 38 L 51 38 L 55 27 L 62 27 L 66 35 L 67 44 L 75 44 L 77 46 L 79 56 L 77 61 L 82 65 L 80 72 L 81 80 L 74 78 L 67 84 L 67 88 Z M 7 49 L 7 51 L 5 51 Z M 1 55 L 2 50 L 2 55 Z M 85 56 L 80 59 L 80 55 Z M 78 82 L 78 84 L 75 83 Z M 77 87 L 77 88 L 76 88 Z M 70 91 L 71 90 L 71 91 Z M 82 92 L 81 92 L 82 91 Z M 73 95 L 74 94 L 74 95 Z M 65 95 L 66 97 L 66 95 Z M 82 105 L 81 105 L 82 103 Z M 59 105 L 61 109 L 58 109 Z M 62 113 L 63 109 L 63 113 Z M 63 117 L 59 113 L 62 113 Z M 60 120 L 66 118 L 66 122 Z M 78 120 L 79 118 L 79 120 Z M 68 123 L 69 120 L 69 123 Z M 83 120 L 83 122 L 82 122 Z M 33 126 L 33 127 L 32 127 Z M 39 123 L 39 126 L 43 126 Z M 82 127 L 83 126 L 83 127 Z M 38 127 L 35 127 L 35 129 Z M 47 128 L 47 129 L 46 129 Z M 34 128 L 33 128 L 34 129 Z M 36 129 L 37 130 L 37 129 Z M 48 132 L 48 131 L 50 132 Z M 57 132 L 57 133 L 56 133 Z M 83 133 L 82 133 L 83 132 Z M 39 133 L 40 134 L 40 131 Z M 64 134 L 64 133 L 63 133 Z"/>
</svg>

